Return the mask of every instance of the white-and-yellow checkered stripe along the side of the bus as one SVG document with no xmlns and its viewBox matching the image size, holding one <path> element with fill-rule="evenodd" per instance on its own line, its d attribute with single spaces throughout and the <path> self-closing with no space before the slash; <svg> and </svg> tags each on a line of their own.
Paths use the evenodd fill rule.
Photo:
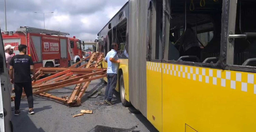
<svg viewBox="0 0 256 132">
<path fill-rule="evenodd" d="M 256 94 L 255 73 L 175 64 L 162 64 L 161 67 L 159 65 L 161 64 L 155 62 L 147 62 L 147 69 L 162 72 L 162 74 L 177 76 L 179 78 L 204 82 L 231 89 L 239 89 L 243 92 L 253 92 L 254 94 Z"/>
</svg>

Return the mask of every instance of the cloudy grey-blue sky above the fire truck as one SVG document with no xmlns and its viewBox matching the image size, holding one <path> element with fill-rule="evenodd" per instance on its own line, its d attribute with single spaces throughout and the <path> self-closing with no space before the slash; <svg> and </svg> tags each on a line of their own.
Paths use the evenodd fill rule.
<svg viewBox="0 0 256 132">
<path fill-rule="evenodd" d="M 20 26 L 68 32 L 70 37 L 94 41 L 97 33 L 128 0 L 6 0 L 7 30 Z M 0 27 L 5 30 L 4 0 L 0 0 Z"/>
</svg>

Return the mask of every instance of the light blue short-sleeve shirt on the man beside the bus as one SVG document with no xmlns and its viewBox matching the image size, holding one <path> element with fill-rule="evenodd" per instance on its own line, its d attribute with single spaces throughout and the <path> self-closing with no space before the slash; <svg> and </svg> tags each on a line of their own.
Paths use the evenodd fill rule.
<svg viewBox="0 0 256 132">
<path fill-rule="evenodd" d="M 114 58 L 116 61 L 118 60 L 117 52 L 114 49 L 111 49 L 105 57 L 105 60 L 107 61 L 107 73 L 115 73 L 117 74 L 118 70 L 118 63 L 113 63 L 109 59 Z"/>
</svg>

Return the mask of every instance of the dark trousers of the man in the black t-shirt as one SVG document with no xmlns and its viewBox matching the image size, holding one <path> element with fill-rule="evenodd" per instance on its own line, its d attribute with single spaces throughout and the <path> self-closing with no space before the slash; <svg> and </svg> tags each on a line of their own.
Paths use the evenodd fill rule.
<svg viewBox="0 0 256 132">
<path fill-rule="evenodd" d="M 26 83 L 14 83 L 14 92 L 15 92 L 15 110 L 20 109 L 20 100 L 22 95 L 22 88 L 27 95 L 28 108 L 33 108 L 33 91 L 32 91 L 32 82 Z"/>
</svg>

